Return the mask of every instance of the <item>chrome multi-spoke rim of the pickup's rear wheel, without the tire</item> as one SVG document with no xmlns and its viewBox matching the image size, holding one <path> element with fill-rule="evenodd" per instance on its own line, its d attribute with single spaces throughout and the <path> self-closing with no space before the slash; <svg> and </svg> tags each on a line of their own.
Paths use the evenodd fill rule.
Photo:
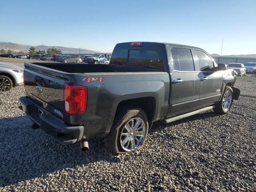
<svg viewBox="0 0 256 192">
<path fill-rule="evenodd" d="M 120 133 L 120 144 L 125 151 L 134 151 L 142 143 L 146 126 L 141 118 L 131 118 L 123 126 Z"/>
</svg>

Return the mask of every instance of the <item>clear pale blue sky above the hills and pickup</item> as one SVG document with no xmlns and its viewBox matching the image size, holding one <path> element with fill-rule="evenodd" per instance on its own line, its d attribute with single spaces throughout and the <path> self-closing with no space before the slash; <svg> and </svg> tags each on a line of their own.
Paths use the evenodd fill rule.
<svg viewBox="0 0 256 192">
<path fill-rule="evenodd" d="M 0 41 L 111 52 L 118 42 L 256 54 L 256 0 L 4 0 Z"/>
</svg>

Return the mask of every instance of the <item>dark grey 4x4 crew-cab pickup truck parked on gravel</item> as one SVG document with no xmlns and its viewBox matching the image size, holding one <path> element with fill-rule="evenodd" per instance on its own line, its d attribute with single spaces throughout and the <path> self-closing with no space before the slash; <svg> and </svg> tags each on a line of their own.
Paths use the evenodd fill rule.
<svg viewBox="0 0 256 192">
<path fill-rule="evenodd" d="M 134 152 L 154 121 L 213 109 L 226 114 L 240 90 L 236 72 L 197 47 L 158 42 L 115 46 L 109 65 L 25 63 L 20 108 L 62 144 L 105 137 L 113 154 Z"/>
</svg>

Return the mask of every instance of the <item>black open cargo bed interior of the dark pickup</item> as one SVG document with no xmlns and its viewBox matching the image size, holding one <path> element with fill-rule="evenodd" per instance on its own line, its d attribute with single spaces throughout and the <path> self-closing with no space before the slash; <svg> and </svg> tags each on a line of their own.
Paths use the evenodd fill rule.
<svg viewBox="0 0 256 192">
<path fill-rule="evenodd" d="M 29 63 L 28 63 L 29 64 Z M 34 62 L 39 65 L 66 73 L 106 73 L 106 72 L 158 72 L 154 68 L 138 68 L 116 64 L 86 64 L 86 63 L 52 63 Z"/>
</svg>

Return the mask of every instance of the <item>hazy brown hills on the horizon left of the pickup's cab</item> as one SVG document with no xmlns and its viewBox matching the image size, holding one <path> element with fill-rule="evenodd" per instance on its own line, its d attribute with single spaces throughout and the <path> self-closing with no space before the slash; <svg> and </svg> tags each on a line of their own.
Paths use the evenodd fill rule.
<svg viewBox="0 0 256 192">
<path fill-rule="evenodd" d="M 21 45 L 21 44 L 17 44 L 17 43 L 11 43 L 11 42 L 0 42 L 0 49 L 4 49 L 4 50 L 12 50 L 13 52 L 18 52 L 18 51 L 22 51 L 24 53 L 28 52 L 28 49 L 31 47 L 31 45 Z M 69 47 L 61 47 L 61 46 L 42 46 L 42 45 L 38 45 L 38 46 L 34 46 L 36 48 L 36 50 L 42 50 L 42 48 L 46 51 L 48 48 L 57 48 L 60 49 L 62 51 L 62 53 L 72 53 L 72 54 L 78 54 L 79 53 L 79 48 L 69 48 Z M 94 53 L 100 53 L 100 52 L 96 52 L 96 51 L 92 51 L 92 50 L 87 50 L 87 49 L 80 49 L 80 53 L 90 53 L 90 54 L 94 54 Z"/>
</svg>

